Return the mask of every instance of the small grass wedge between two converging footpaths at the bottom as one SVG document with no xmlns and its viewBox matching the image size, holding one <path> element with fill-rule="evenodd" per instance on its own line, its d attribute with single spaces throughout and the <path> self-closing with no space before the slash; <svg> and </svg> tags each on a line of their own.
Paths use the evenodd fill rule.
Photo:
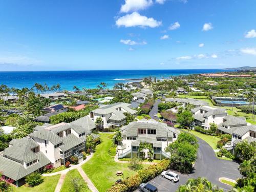
<svg viewBox="0 0 256 192">
<path fill-rule="evenodd" d="M 85 191 L 85 192 L 91 191 L 88 188 L 87 183 L 84 182 L 82 176 L 79 174 L 78 170 L 77 169 L 72 169 L 67 173 L 66 178 L 63 182 L 63 185 L 60 189 L 60 192 L 73 192 L 73 191 L 75 191 L 73 189 L 73 186 L 72 186 L 72 179 L 74 179 L 74 178 L 79 179 L 81 184 L 83 185 L 81 191 Z"/>
</svg>

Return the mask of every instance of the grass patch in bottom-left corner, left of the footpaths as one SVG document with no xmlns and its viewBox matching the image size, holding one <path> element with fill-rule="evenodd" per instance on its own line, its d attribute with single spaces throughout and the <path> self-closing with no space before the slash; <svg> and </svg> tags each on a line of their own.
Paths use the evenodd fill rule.
<svg viewBox="0 0 256 192">
<path fill-rule="evenodd" d="M 34 191 L 44 191 L 44 192 L 54 192 L 60 175 L 54 175 L 50 177 L 43 177 L 44 182 L 42 182 L 40 185 L 37 185 L 35 187 L 27 187 L 26 185 L 23 185 L 18 188 L 13 187 L 13 191 L 15 192 L 34 192 Z"/>
</svg>

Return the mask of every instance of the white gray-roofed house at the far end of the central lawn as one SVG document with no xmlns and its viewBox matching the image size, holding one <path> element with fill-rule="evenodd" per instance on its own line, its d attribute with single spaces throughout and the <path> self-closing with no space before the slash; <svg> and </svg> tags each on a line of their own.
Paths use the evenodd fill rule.
<svg viewBox="0 0 256 192">
<path fill-rule="evenodd" d="M 123 113 L 130 113 L 137 117 L 137 111 L 131 109 L 131 104 L 118 102 L 103 106 L 90 112 L 90 118 L 95 122 L 97 118 L 103 121 L 103 127 L 120 127 L 126 122 L 126 116 Z"/>
</svg>

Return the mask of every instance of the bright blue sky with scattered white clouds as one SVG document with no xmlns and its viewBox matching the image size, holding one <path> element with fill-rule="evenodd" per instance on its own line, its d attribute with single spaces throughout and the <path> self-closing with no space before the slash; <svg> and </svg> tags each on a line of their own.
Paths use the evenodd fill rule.
<svg viewBox="0 0 256 192">
<path fill-rule="evenodd" d="M 255 0 L 0 2 L 0 70 L 256 66 Z"/>
</svg>

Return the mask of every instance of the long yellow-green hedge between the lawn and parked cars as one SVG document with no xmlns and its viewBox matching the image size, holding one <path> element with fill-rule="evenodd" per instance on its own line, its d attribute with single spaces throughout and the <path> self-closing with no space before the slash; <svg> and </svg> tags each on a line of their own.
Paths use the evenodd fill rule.
<svg viewBox="0 0 256 192">
<path fill-rule="evenodd" d="M 169 159 L 164 159 L 156 165 L 150 165 L 147 168 L 139 170 L 137 174 L 126 178 L 121 183 L 112 185 L 107 192 L 128 192 L 136 190 L 140 183 L 146 183 L 168 169 L 170 165 Z"/>
</svg>

